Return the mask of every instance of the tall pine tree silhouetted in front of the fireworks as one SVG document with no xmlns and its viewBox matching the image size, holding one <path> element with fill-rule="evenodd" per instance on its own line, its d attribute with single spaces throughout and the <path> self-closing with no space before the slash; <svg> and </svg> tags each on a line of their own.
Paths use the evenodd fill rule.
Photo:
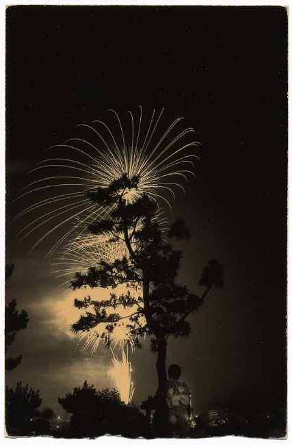
<svg viewBox="0 0 292 445">
<path fill-rule="evenodd" d="M 189 335 L 191 329 L 186 318 L 198 310 L 213 286 L 223 288 L 224 266 L 215 259 L 203 269 L 198 285 L 203 286 L 201 297 L 189 292 L 185 285 L 175 282 L 180 267 L 182 252 L 172 248 L 172 238 L 187 239 L 189 231 L 183 220 L 176 220 L 168 231 L 161 232 L 157 221 L 157 203 L 143 194 L 135 202 L 127 200 L 127 194 L 137 188 L 139 177 L 124 174 L 107 188 L 88 192 L 96 205 L 107 212 L 107 218 L 94 221 L 88 228 L 96 234 L 105 231 L 111 235 L 111 242 L 124 242 L 128 255 L 108 263 L 100 261 L 82 274 L 77 272 L 71 281 L 72 289 L 113 288 L 126 283 L 127 294 L 111 294 L 108 300 L 93 301 L 90 296 L 83 301 L 75 299 L 78 308 L 92 307 L 72 325 L 72 330 L 87 331 L 98 323 L 106 323 L 110 333 L 121 320 L 118 312 L 107 314 L 109 307 L 137 307 L 127 320 L 133 338 L 148 333 L 151 335 L 152 351 L 157 353 L 157 375 L 159 387 L 166 381 L 165 357 L 170 335 L 175 338 Z M 131 295 L 131 288 L 140 285 L 141 295 Z M 143 323 L 146 320 L 146 323 Z M 136 340 L 137 341 L 137 340 Z"/>
</svg>

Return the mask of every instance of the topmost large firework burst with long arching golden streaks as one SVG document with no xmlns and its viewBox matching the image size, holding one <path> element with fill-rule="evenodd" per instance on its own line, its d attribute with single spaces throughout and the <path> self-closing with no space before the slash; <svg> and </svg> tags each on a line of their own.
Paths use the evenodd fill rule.
<svg viewBox="0 0 292 445">
<path fill-rule="evenodd" d="M 150 118 L 143 119 L 145 124 L 142 107 L 136 117 L 127 112 L 123 124 L 114 110 L 109 113 L 114 124 L 94 120 L 90 125 L 77 125 L 84 136 L 78 134 L 79 137 L 49 147 L 51 157 L 29 172 L 36 179 L 18 196 L 25 201 L 25 208 L 14 220 L 23 220 L 17 234 L 20 240 L 37 238 L 31 250 L 49 237 L 49 256 L 70 236 L 81 235 L 94 220 L 106 218 L 105 209 L 92 203 L 87 193 L 109 186 L 124 173 L 130 179 L 140 177 L 138 188 L 127 191 L 128 202 L 145 192 L 168 205 L 176 188 L 184 190 L 181 181 L 194 175 L 197 156 L 192 149 L 198 142 L 191 127 L 176 130 L 183 118 L 177 118 L 166 131 L 161 131 L 163 110 L 157 114 L 154 110 Z"/>
</svg>

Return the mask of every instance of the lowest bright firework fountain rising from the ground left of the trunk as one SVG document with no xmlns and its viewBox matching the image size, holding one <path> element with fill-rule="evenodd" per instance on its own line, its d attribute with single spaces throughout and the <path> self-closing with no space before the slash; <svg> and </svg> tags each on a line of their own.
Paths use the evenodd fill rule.
<svg viewBox="0 0 292 445">
<path fill-rule="evenodd" d="M 131 363 L 127 354 L 122 351 L 122 359 L 118 359 L 114 355 L 114 351 L 111 351 L 113 357 L 111 362 L 112 368 L 109 369 L 108 374 L 114 380 L 114 385 L 118 392 L 120 392 L 120 398 L 124 403 L 131 403 L 134 393 L 133 381 L 131 381 Z"/>
</svg>

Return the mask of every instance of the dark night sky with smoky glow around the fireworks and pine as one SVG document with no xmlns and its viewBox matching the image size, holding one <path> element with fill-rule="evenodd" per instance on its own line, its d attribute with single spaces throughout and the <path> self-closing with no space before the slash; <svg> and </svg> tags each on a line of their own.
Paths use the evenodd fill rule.
<svg viewBox="0 0 292 445">
<path fill-rule="evenodd" d="M 28 254 L 36 235 L 19 244 L 21 221 L 10 219 L 44 149 L 109 108 L 142 105 L 165 107 L 167 123 L 185 116 L 202 144 L 196 179 L 172 202 L 170 218 L 192 233 L 179 244 L 179 281 L 200 294 L 208 259 L 226 264 L 225 290 L 190 317 L 189 339 L 169 341 L 167 364 L 183 368 L 195 411 L 261 400 L 286 357 L 286 9 L 16 6 L 6 44 L 6 262 L 15 264 L 6 298 L 29 314 L 10 347 L 23 361 L 8 383 L 39 388 L 42 407 L 62 416 L 57 396 L 85 379 L 111 385 L 109 351 L 91 356 L 70 334 L 75 296 L 56 288 L 48 241 Z M 131 362 L 141 403 L 157 389 L 148 340 Z"/>
</svg>

